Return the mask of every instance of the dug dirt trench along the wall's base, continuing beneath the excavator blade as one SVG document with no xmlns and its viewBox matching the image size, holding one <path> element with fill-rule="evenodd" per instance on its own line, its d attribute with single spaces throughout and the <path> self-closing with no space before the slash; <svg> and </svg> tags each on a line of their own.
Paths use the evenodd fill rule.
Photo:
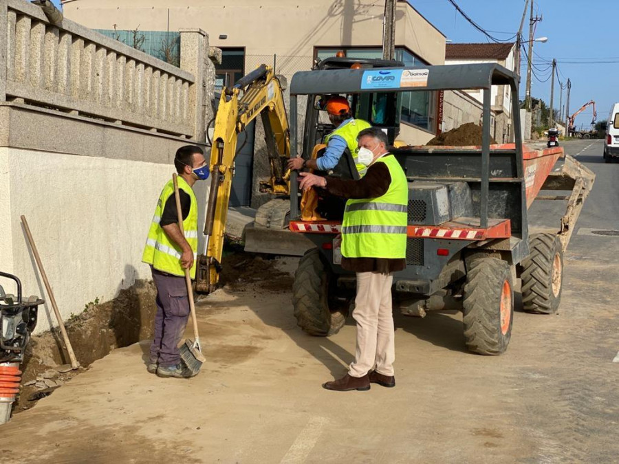
<svg viewBox="0 0 619 464">
<path fill-rule="evenodd" d="M 230 252 L 222 260 L 221 287 L 241 290 L 259 283 L 259 291 L 279 292 L 292 288 L 292 276 L 274 267 L 274 260 L 244 252 Z M 111 351 L 153 336 L 155 286 L 138 280 L 109 302 L 88 305 L 85 311 L 66 322 L 69 340 L 80 368 L 67 368 L 69 359 L 61 334 L 52 330 L 30 340 L 21 364 L 21 392 L 13 404 L 13 415 L 32 408 L 36 401 L 51 395 L 72 377 Z M 41 309 L 40 309 L 41 311 Z"/>
</svg>

